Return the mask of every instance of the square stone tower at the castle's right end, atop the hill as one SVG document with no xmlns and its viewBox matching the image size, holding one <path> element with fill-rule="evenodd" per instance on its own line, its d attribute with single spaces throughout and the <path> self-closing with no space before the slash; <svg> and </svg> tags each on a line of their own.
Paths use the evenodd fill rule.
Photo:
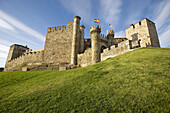
<svg viewBox="0 0 170 113">
<path fill-rule="evenodd" d="M 126 29 L 128 40 L 140 40 L 141 47 L 160 47 L 155 23 L 145 18 Z"/>
</svg>

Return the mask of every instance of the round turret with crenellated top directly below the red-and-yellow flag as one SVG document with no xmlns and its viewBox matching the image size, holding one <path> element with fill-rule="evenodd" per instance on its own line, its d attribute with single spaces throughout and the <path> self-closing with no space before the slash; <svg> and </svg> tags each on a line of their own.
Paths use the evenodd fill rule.
<svg viewBox="0 0 170 113">
<path fill-rule="evenodd" d="M 90 28 L 90 36 L 92 40 L 92 64 L 100 62 L 100 47 L 99 47 L 99 34 L 101 32 L 101 28 L 99 26 Z"/>
</svg>

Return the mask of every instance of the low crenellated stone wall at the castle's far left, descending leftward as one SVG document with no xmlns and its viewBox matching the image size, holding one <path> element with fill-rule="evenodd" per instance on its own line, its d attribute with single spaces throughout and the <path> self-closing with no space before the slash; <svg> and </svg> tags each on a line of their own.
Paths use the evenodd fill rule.
<svg viewBox="0 0 170 113">
<path fill-rule="evenodd" d="M 16 67 L 26 66 L 28 63 L 43 63 L 44 51 L 25 52 L 21 56 L 8 61 L 5 71 L 15 70 Z"/>
</svg>

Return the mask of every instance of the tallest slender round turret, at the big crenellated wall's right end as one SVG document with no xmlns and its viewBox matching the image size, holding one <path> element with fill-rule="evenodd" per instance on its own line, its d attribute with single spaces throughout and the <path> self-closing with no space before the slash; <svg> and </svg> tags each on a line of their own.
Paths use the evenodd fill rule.
<svg viewBox="0 0 170 113">
<path fill-rule="evenodd" d="M 74 16 L 74 24 L 73 24 L 73 37 L 72 37 L 72 50 L 71 50 L 71 64 L 77 64 L 77 54 L 79 47 L 79 30 L 80 30 L 80 20 L 79 16 Z"/>
</svg>

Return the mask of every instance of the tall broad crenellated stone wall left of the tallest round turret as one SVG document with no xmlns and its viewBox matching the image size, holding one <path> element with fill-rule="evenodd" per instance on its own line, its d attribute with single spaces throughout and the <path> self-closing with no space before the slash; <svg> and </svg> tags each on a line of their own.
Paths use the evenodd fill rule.
<svg viewBox="0 0 170 113">
<path fill-rule="evenodd" d="M 67 23 L 67 28 L 60 26 L 48 28 L 44 47 L 45 63 L 70 63 L 73 36 L 73 21 Z"/>
</svg>

